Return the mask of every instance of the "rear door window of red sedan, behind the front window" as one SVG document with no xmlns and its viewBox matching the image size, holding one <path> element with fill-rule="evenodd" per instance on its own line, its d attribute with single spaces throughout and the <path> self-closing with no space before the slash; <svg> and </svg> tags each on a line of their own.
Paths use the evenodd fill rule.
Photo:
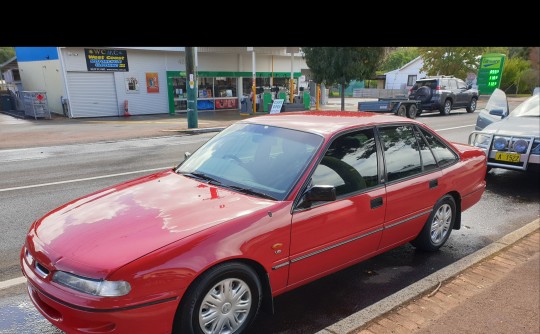
<svg viewBox="0 0 540 334">
<path fill-rule="evenodd" d="M 422 172 L 418 143 L 411 125 L 379 128 L 389 182 Z"/>
</svg>

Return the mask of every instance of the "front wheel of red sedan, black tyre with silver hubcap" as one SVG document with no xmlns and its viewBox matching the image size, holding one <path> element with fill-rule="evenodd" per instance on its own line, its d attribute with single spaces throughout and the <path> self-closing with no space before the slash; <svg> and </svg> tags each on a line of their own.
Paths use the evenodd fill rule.
<svg viewBox="0 0 540 334">
<path fill-rule="evenodd" d="M 242 333 L 257 315 L 261 299 L 261 283 L 253 269 L 236 262 L 217 265 L 182 297 L 173 333 Z"/>
</svg>

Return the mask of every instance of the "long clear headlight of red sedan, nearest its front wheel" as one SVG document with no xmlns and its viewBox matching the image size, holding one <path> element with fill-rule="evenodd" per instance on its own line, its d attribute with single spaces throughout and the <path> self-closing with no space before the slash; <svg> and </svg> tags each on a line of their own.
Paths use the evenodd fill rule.
<svg viewBox="0 0 540 334">
<path fill-rule="evenodd" d="M 128 294 L 131 290 L 131 286 L 125 281 L 95 280 L 66 273 L 64 271 L 55 272 L 53 281 L 80 292 L 102 297 L 123 296 Z"/>
</svg>

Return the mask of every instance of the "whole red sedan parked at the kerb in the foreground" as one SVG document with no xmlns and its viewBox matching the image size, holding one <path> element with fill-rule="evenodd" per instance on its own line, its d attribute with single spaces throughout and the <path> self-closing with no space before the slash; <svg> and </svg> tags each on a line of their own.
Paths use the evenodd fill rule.
<svg viewBox="0 0 540 334">
<path fill-rule="evenodd" d="M 242 333 L 273 298 L 411 242 L 440 249 L 486 156 L 358 112 L 239 121 L 177 167 L 37 219 L 20 264 L 68 333 Z"/>
</svg>

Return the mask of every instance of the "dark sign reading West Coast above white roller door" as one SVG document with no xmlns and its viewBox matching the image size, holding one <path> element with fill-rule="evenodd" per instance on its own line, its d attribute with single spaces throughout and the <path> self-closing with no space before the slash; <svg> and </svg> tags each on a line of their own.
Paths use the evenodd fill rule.
<svg viewBox="0 0 540 334">
<path fill-rule="evenodd" d="M 127 52 L 117 49 L 84 49 L 86 68 L 94 72 L 128 72 Z"/>
</svg>

